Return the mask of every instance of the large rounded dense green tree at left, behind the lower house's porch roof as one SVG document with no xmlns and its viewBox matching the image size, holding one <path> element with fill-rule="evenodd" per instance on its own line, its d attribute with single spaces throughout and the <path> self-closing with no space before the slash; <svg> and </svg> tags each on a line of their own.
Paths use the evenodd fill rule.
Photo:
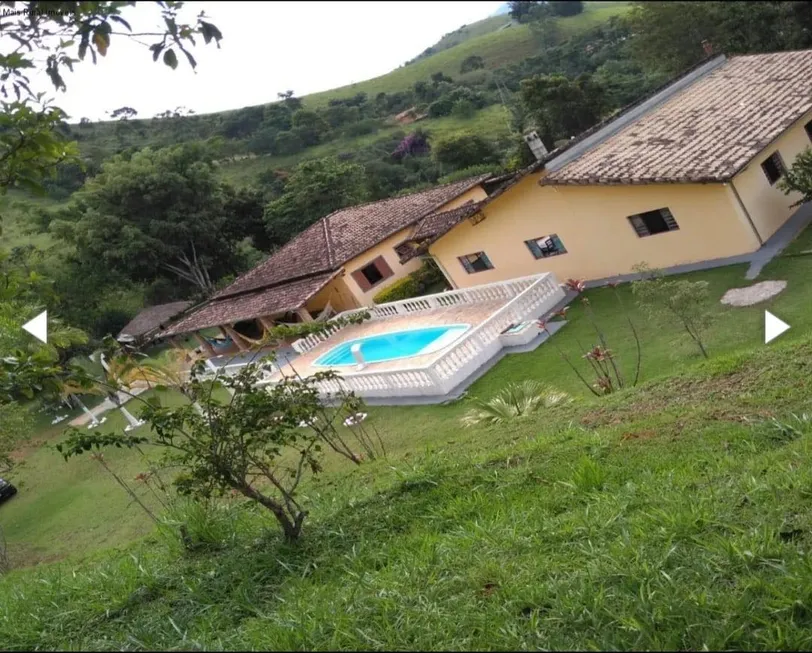
<svg viewBox="0 0 812 653">
<path fill-rule="evenodd" d="M 199 144 L 117 155 L 76 194 L 73 218 L 50 229 L 76 247 L 90 268 L 133 281 L 180 278 L 203 293 L 238 271 L 236 243 L 246 226 L 231 215 L 247 196 L 215 176 L 211 153 Z M 252 218 L 253 219 L 253 218 Z"/>
</svg>

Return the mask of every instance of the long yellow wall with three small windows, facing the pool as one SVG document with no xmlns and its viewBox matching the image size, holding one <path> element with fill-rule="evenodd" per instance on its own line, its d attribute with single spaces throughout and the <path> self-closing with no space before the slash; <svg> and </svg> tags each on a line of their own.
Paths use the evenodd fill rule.
<svg viewBox="0 0 812 653">
<path fill-rule="evenodd" d="M 752 228 L 722 184 L 543 186 L 528 175 L 487 205 L 486 219 L 466 220 L 431 245 L 455 287 L 540 272 L 559 279 L 600 279 L 636 263 L 666 267 L 751 252 Z M 679 230 L 640 238 L 627 216 L 668 207 Z M 535 259 L 525 240 L 557 234 L 566 254 Z M 493 270 L 468 274 L 458 256 L 484 251 Z"/>
</svg>

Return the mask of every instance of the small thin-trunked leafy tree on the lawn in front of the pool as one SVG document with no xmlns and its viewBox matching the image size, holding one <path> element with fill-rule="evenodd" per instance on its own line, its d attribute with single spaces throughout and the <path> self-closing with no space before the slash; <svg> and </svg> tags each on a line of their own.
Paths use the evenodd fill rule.
<svg viewBox="0 0 812 653">
<path fill-rule="evenodd" d="M 313 328 L 323 330 L 325 326 Z M 73 429 L 57 450 L 67 460 L 93 449 L 150 443 L 165 451 L 168 465 L 181 470 L 175 479 L 181 494 L 195 498 L 221 496 L 228 491 L 242 494 L 274 515 L 285 539 L 296 540 L 307 516 L 297 490 L 307 473 L 321 471 L 323 448 L 355 464 L 386 452 L 377 433 L 370 434 L 360 423 L 363 404 L 357 397 L 342 393 L 332 408 L 319 397 L 317 384 L 336 379 L 334 372 L 306 379 L 286 377 L 271 386 L 260 385 L 270 362 L 252 363 L 233 377 L 216 376 L 213 380 L 204 376 L 202 362 L 192 368 L 188 379 L 171 366 L 141 368 L 135 378 L 140 374 L 143 379 L 175 386 L 188 403 L 164 405 L 160 394 L 148 400 L 136 397 L 143 405 L 139 417 L 149 422 L 154 437 L 85 434 Z M 82 383 L 89 381 L 80 371 L 75 374 L 82 377 Z M 118 390 L 115 379 L 103 385 Z M 156 386 L 156 390 L 165 387 Z M 218 396 L 218 387 L 228 391 L 228 400 Z M 352 418 L 350 432 L 342 434 L 336 422 L 348 417 Z M 350 446 L 350 438 L 360 446 L 360 452 Z"/>
</svg>

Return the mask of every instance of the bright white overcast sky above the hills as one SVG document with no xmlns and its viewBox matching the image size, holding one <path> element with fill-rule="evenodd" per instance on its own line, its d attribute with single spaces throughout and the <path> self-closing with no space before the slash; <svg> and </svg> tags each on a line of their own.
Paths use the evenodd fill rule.
<svg viewBox="0 0 812 653">
<path fill-rule="evenodd" d="M 203 9 L 223 33 L 221 47 L 194 49 L 193 73 L 185 58 L 172 71 L 151 53 L 112 37 L 105 58 L 66 72 L 68 90 L 56 104 L 93 120 L 122 106 L 149 118 L 185 106 L 196 113 L 275 101 L 383 75 L 414 58 L 443 34 L 486 18 L 502 2 L 188 2 L 187 16 Z M 154 28 L 152 3 L 123 15 L 134 31 Z M 154 39 L 145 39 L 147 44 Z M 37 86 L 45 90 L 47 81 Z"/>
</svg>

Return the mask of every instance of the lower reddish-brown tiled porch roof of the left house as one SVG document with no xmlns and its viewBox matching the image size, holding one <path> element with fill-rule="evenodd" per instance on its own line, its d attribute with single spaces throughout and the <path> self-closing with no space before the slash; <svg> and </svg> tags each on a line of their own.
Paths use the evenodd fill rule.
<svg viewBox="0 0 812 653">
<path fill-rule="evenodd" d="M 176 333 L 188 333 L 189 331 L 208 329 L 220 324 L 233 324 L 241 320 L 250 320 L 259 315 L 295 311 L 321 290 L 334 276 L 334 272 L 327 272 L 271 288 L 261 288 L 236 297 L 212 300 L 170 326 L 160 335 L 171 336 Z"/>
</svg>

